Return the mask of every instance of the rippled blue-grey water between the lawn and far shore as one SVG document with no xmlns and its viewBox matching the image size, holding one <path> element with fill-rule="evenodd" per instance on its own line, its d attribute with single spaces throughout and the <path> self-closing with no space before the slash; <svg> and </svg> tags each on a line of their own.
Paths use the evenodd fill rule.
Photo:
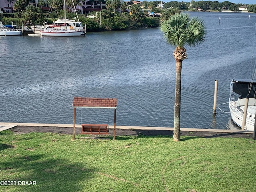
<svg viewBox="0 0 256 192">
<path fill-rule="evenodd" d="M 181 127 L 236 128 L 231 78 L 250 78 L 256 14 L 189 13 L 206 23 L 206 40 L 186 46 Z M 219 19 L 220 24 L 219 24 Z M 158 28 L 91 32 L 86 37 L 0 36 L 0 122 L 72 124 L 74 96 L 117 98 L 117 125 L 172 127 L 174 47 Z M 220 105 L 228 112 L 228 104 Z M 113 124 L 114 110 L 77 109 L 76 123 Z"/>
</svg>

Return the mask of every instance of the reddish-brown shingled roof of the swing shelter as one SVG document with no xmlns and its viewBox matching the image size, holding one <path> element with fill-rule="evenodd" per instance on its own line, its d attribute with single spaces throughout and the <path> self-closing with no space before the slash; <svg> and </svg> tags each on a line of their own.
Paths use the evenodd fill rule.
<svg viewBox="0 0 256 192">
<path fill-rule="evenodd" d="M 115 108 L 117 106 L 116 98 L 91 98 L 91 97 L 74 97 L 74 108 Z"/>
</svg>

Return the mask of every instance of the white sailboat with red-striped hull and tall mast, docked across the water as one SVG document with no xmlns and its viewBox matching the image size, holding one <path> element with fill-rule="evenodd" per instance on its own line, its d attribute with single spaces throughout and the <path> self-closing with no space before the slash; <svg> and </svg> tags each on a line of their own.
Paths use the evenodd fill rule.
<svg viewBox="0 0 256 192">
<path fill-rule="evenodd" d="M 73 2 L 74 5 L 74 2 Z M 75 9 L 76 11 L 76 9 Z M 78 16 L 77 16 L 78 18 Z M 79 21 L 79 19 L 78 19 Z M 68 28 L 67 22 L 66 22 L 66 0 L 64 0 L 64 25 L 63 26 L 48 26 L 47 28 L 44 28 L 44 30 L 40 31 L 41 36 L 81 36 L 84 35 L 83 28 L 79 27 L 76 29 Z"/>
</svg>

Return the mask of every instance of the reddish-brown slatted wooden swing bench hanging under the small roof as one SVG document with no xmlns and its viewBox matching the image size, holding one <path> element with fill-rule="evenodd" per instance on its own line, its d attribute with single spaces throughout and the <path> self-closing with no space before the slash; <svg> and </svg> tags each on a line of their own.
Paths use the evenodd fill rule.
<svg viewBox="0 0 256 192">
<path fill-rule="evenodd" d="M 108 124 L 82 124 L 81 134 L 108 135 Z"/>
</svg>

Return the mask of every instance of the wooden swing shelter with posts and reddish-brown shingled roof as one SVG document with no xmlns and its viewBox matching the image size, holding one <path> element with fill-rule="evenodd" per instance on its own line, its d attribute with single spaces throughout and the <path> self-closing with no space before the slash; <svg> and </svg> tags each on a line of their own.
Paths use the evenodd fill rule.
<svg viewBox="0 0 256 192">
<path fill-rule="evenodd" d="M 116 98 L 90 98 L 90 97 L 74 97 L 73 104 L 74 108 L 74 121 L 73 121 L 73 139 L 75 139 L 75 129 L 76 129 L 76 108 L 107 108 L 114 109 L 114 136 L 113 140 L 116 137 L 116 107 L 117 107 L 117 99 Z M 88 126 L 89 124 L 86 124 Z M 97 126 L 96 124 L 92 124 L 92 126 Z M 100 127 L 102 125 L 98 125 Z M 92 128 L 90 130 L 92 134 Z M 88 132 L 86 132 L 88 134 Z M 100 134 L 100 129 L 98 134 Z"/>
</svg>

